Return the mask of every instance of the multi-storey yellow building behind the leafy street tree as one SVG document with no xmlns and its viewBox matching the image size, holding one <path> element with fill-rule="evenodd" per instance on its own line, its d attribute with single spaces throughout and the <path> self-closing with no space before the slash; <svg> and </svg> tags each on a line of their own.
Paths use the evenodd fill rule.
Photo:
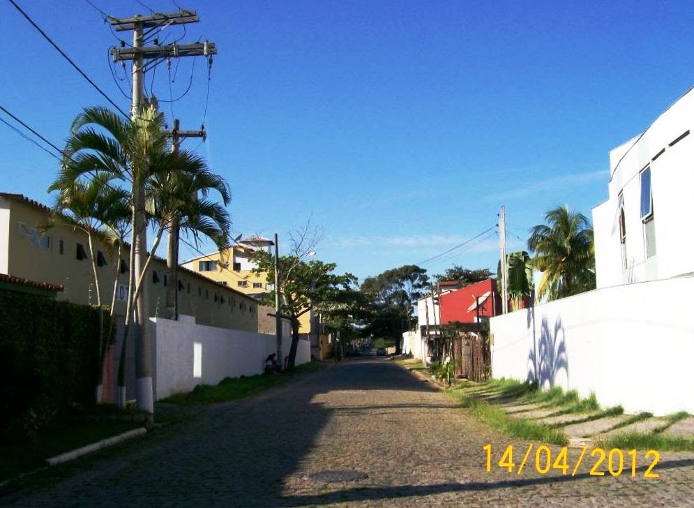
<svg viewBox="0 0 694 508">
<path fill-rule="evenodd" d="M 256 264 L 250 260 L 254 251 L 262 249 L 271 252 L 275 243 L 267 238 L 253 236 L 239 239 L 236 245 L 224 250 L 193 257 L 181 263 L 186 269 L 197 271 L 213 281 L 248 294 L 255 299 L 266 297 L 274 288 L 275 281 L 268 281 L 266 274 L 255 274 Z M 312 312 L 299 317 L 299 333 L 311 333 Z"/>
</svg>

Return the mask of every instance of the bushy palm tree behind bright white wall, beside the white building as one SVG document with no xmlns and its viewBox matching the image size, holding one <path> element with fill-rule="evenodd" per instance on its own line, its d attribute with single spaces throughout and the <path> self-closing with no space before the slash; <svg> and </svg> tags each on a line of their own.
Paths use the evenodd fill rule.
<svg viewBox="0 0 694 508">
<path fill-rule="evenodd" d="M 533 227 L 528 248 L 534 267 L 543 272 L 538 298 L 559 299 L 595 288 L 593 228 L 583 214 L 566 205 L 545 214 L 546 224 Z"/>
</svg>

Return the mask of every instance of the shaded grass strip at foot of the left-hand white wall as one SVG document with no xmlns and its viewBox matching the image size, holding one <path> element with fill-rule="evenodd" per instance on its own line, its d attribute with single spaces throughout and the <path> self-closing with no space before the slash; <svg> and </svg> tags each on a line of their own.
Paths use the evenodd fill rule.
<svg viewBox="0 0 694 508">
<path fill-rule="evenodd" d="M 282 384 L 287 382 L 287 380 L 296 378 L 297 375 L 319 371 L 324 367 L 325 364 L 312 361 L 280 375 L 259 374 L 249 377 L 242 376 L 241 378 L 225 378 L 215 385 L 198 384 L 193 391 L 189 391 L 187 394 L 172 395 L 165 398 L 162 402 L 174 404 L 207 405 L 235 401 L 236 399 L 256 394 L 259 391 L 276 387 L 278 384 Z"/>
</svg>

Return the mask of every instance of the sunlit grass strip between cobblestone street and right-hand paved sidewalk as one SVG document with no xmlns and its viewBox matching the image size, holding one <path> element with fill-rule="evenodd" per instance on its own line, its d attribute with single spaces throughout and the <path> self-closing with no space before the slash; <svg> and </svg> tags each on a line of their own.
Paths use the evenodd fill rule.
<svg viewBox="0 0 694 508">
<path fill-rule="evenodd" d="M 461 401 L 476 419 L 512 438 L 548 442 L 562 446 L 568 444 L 568 438 L 558 428 L 534 420 L 511 418 L 498 406 L 490 404 L 478 396 L 466 394 L 464 390 L 452 389 L 446 391 L 446 394 Z"/>
</svg>

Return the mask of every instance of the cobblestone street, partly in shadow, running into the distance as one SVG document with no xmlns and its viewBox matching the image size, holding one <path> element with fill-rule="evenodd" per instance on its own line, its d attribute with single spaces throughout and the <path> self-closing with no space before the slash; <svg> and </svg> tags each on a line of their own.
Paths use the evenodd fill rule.
<svg viewBox="0 0 694 508">
<path fill-rule="evenodd" d="M 662 452 L 657 479 L 643 478 L 642 459 L 635 478 L 628 467 L 619 477 L 591 477 L 592 461 L 575 477 L 539 475 L 534 463 L 509 475 L 494 464 L 486 472 L 487 443 L 495 450 L 515 444 L 516 461 L 527 447 L 488 430 L 392 361 L 360 359 L 67 465 L 69 475 L 0 505 L 633 507 L 694 500 L 692 453 Z M 569 451 L 571 464 L 578 454 Z M 320 473 L 329 471 L 368 476 L 325 481 Z"/>
</svg>

